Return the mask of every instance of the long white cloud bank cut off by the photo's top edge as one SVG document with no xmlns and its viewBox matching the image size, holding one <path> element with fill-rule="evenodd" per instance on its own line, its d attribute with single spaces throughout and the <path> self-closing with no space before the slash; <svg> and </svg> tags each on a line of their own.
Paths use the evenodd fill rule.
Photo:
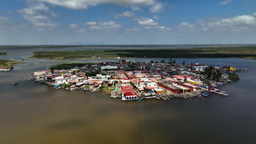
<svg viewBox="0 0 256 144">
<path fill-rule="evenodd" d="M 156 0 L 35 0 L 38 2 L 44 2 L 54 5 L 60 5 L 62 7 L 70 9 L 87 9 L 91 6 L 99 4 L 115 4 L 121 6 L 132 5 L 153 5 Z"/>
</svg>

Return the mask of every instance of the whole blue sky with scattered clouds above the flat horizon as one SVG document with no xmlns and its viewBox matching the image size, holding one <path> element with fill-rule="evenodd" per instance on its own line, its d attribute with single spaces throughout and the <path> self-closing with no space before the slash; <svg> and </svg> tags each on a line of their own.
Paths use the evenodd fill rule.
<svg viewBox="0 0 256 144">
<path fill-rule="evenodd" d="M 0 45 L 255 44 L 255 0 L 8 0 Z"/>
</svg>

